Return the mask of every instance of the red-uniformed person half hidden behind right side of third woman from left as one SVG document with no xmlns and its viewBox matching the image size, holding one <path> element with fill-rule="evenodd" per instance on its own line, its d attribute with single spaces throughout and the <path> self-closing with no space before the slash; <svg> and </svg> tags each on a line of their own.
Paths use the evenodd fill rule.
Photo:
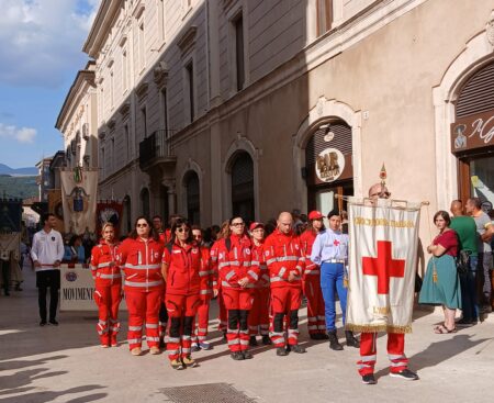
<svg viewBox="0 0 494 403">
<path fill-rule="evenodd" d="M 202 230 L 199 226 L 192 226 L 192 238 L 197 246 L 201 248 L 201 279 L 200 299 L 197 315 L 197 335 L 192 335 L 192 348 L 209 350 L 211 348 L 206 340 L 207 324 L 210 321 L 210 302 L 212 296 L 217 295 L 217 287 L 213 279 L 213 269 L 211 267 L 210 249 L 202 245 Z"/>
</svg>

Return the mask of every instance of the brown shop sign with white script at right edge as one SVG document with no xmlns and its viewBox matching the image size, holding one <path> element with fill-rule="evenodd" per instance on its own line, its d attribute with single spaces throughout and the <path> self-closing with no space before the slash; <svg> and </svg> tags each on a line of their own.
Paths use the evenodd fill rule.
<svg viewBox="0 0 494 403">
<path fill-rule="evenodd" d="M 453 153 L 494 145 L 494 111 L 465 116 L 451 124 Z"/>
</svg>

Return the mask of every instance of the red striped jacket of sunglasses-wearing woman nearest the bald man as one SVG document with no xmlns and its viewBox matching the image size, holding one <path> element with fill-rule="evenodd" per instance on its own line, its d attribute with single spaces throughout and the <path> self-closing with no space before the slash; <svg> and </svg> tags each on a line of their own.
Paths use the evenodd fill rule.
<svg viewBox="0 0 494 403">
<path fill-rule="evenodd" d="M 213 260 L 213 267 L 220 276 L 222 288 L 240 289 L 238 280 L 246 277 L 249 280 L 247 287 L 252 288 L 259 280 L 259 258 L 251 250 L 247 236 L 231 235 L 216 242 L 213 248 L 217 257 Z"/>
</svg>

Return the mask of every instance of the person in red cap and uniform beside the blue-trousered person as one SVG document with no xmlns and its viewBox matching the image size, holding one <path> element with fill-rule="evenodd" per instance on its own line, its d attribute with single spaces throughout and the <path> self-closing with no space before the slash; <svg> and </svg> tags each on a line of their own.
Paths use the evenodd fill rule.
<svg viewBox="0 0 494 403">
<path fill-rule="evenodd" d="M 324 231 L 324 215 L 319 211 L 308 213 L 310 226 L 300 236 L 300 244 L 305 255 L 305 269 L 302 278 L 302 289 L 307 299 L 308 336 L 314 340 L 327 339 L 324 299 L 321 291 L 319 266 L 311 261 L 312 245 L 317 234 Z"/>
</svg>

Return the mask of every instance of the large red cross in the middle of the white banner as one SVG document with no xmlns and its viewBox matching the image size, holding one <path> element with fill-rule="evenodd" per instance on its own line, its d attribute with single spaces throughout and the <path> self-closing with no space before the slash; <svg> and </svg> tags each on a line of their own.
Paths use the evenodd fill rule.
<svg viewBox="0 0 494 403">
<path fill-rule="evenodd" d="M 393 259 L 392 243 L 378 240 L 378 257 L 362 257 L 362 271 L 367 276 L 378 276 L 378 294 L 390 293 L 390 278 L 405 276 L 405 260 Z"/>
</svg>

